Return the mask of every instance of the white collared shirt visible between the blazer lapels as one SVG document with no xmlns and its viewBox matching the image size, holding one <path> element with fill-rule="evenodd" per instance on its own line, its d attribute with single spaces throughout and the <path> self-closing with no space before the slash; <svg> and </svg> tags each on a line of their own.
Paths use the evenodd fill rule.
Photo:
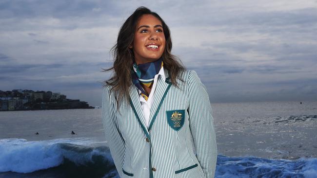
<svg viewBox="0 0 317 178">
<path fill-rule="evenodd" d="M 149 97 L 147 98 L 147 101 L 143 98 L 143 96 L 141 95 L 141 90 L 139 90 L 139 99 L 140 99 L 140 103 L 141 103 L 141 107 L 142 107 L 142 111 L 143 111 L 143 115 L 145 118 L 145 124 L 146 127 L 149 127 L 149 122 L 150 122 L 150 110 L 153 104 L 153 100 L 154 100 L 154 95 L 155 95 L 155 88 L 156 85 L 158 83 L 158 75 L 161 75 L 161 77 L 163 77 L 163 79 L 165 79 L 165 74 L 164 74 L 164 69 L 163 66 L 161 67 L 161 69 L 158 71 L 158 74 L 156 74 L 154 76 L 154 81 L 153 81 L 153 85 L 152 85 L 152 89 L 150 92 Z"/>
</svg>

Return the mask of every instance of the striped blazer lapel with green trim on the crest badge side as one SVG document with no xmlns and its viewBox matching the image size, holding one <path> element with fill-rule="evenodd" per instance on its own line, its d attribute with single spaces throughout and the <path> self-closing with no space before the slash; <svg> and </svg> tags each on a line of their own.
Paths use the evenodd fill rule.
<svg viewBox="0 0 317 178">
<path fill-rule="evenodd" d="M 150 109 L 150 122 L 149 122 L 150 124 L 148 128 L 149 131 L 152 128 L 152 125 L 156 119 L 156 116 L 161 107 L 161 104 L 164 101 L 164 98 L 172 85 L 169 80 L 170 74 L 166 69 L 164 69 L 164 75 L 165 75 L 165 78 L 162 78 L 161 75 L 159 75 L 158 77 L 158 83 L 155 89 L 154 100 L 153 100 L 152 107 Z"/>
</svg>

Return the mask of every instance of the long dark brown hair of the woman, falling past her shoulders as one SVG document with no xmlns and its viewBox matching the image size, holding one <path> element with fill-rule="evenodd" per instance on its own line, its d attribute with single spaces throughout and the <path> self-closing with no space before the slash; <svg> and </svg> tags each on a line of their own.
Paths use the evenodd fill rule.
<svg viewBox="0 0 317 178">
<path fill-rule="evenodd" d="M 182 65 L 178 57 L 171 54 L 171 33 L 164 20 L 160 18 L 157 13 L 152 12 L 146 7 L 141 6 L 137 8 L 136 11 L 134 11 L 134 13 L 126 19 L 121 26 L 117 43 L 110 50 L 114 59 L 113 67 L 103 69 L 103 71 L 114 71 L 113 76 L 109 80 L 105 81 L 105 85 L 111 86 L 111 91 L 115 92 L 117 106 L 119 106 L 119 103 L 123 98 L 129 98 L 129 87 L 132 84 L 131 69 L 134 61 L 133 50 L 130 49 L 129 46 L 133 43 L 138 20 L 145 14 L 153 15 L 162 22 L 165 36 L 165 49 L 162 54 L 163 63 L 164 69 L 167 69 L 170 72 L 172 85 L 178 86 L 176 79 L 178 78 L 179 72 L 185 70 L 185 67 Z"/>
</svg>

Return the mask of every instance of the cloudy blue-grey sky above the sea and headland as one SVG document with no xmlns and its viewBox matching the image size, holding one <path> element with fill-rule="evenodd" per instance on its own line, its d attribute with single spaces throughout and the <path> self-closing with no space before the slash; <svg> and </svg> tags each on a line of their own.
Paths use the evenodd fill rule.
<svg viewBox="0 0 317 178">
<path fill-rule="evenodd" d="M 100 106 L 109 50 L 139 6 L 164 19 L 212 103 L 317 101 L 317 0 L 0 0 L 0 90 Z"/>
</svg>

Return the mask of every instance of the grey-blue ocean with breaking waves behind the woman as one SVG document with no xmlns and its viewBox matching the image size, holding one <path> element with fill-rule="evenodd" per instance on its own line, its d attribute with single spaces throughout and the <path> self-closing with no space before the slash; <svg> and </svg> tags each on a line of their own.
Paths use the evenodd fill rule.
<svg viewBox="0 0 317 178">
<path fill-rule="evenodd" d="M 317 102 L 212 108 L 216 178 L 317 178 Z M 100 108 L 0 112 L 0 178 L 119 178 L 105 145 Z"/>
</svg>

